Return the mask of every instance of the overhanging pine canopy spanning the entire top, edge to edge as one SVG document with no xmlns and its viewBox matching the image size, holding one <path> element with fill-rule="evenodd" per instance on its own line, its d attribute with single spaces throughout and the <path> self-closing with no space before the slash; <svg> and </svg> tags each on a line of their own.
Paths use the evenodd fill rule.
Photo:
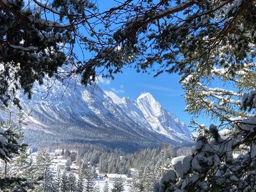
<svg viewBox="0 0 256 192">
<path fill-rule="evenodd" d="M 214 67 L 235 74 L 255 57 L 251 0 L 124 1 L 103 12 L 92 1 L 3 1 L 1 7 L 3 102 L 13 92 L 10 84 L 30 96 L 35 81 L 43 83 L 64 63 L 74 64 L 68 75 L 82 73 L 87 84 L 97 79 L 97 67 L 113 77 L 136 63 L 138 71 L 179 72 L 186 79 Z M 76 43 L 95 54 L 77 61 Z"/>
</svg>

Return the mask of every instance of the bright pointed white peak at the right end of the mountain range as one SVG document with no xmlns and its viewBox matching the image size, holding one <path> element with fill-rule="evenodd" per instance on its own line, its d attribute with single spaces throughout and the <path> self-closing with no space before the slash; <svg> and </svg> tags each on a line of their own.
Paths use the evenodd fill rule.
<svg viewBox="0 0 256 192">
<path fill-rule="evenodd" d="M 137 124 L 152 132 L 177 142 L 191 141 L 188 127 L 173 113 L 164 109 L 150 93 L 142 93 L 135 101 L 124 97 L 118 105 Z"/>
</svg>

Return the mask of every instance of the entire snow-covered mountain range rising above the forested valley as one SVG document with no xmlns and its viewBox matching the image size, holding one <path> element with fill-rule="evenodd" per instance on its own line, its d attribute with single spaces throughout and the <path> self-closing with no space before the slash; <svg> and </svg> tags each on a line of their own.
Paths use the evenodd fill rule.
<svg viewBox="0 0 256 192">
<path fill-rule="evenodd" d="M 33 111 L 23 125 L 25 141 L 32 146 L 100 144 L 127 151 L 191 141 L 186 125 L 150 93 L 136 100 L 108 95 L 97 84 L 85 87 L 74 80 L 68 86 L 54 84 L 45 98 L 39 93 L 32 100 L 19 95 L 24 111 Z"/>
</svg>

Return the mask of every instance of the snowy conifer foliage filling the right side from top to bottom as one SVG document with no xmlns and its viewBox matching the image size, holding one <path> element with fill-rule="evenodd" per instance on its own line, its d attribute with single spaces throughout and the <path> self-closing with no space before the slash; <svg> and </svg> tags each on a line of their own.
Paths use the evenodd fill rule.
<svg viewBox="0 0 256 192">
<path fill-rule="evenodd" d="M 192 1 L 179 3 L 182 9 Z M 183 75 L 187 111 L 206 113 L 220 125 L 194 122 L 200 134 L 191 154 L 175 159 L 154 191 L 255 191 L 255 1 L 198 3 L 180 20 L 186 38 L 177 35 L 172 50 L 187 52 L 179 52 L 181 63 L 170 71 Z M 176 30 L 177 23 L 170 27 Z"/>
</svg>

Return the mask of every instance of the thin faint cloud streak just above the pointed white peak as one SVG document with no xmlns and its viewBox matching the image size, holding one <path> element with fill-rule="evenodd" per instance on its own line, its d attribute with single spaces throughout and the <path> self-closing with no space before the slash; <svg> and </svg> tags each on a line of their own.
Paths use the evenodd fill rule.
<svg viewBox="0 0 256 192">
<path fill-rule="evenodd" d="M 147 84 L 147 83 L 140 83 L 140 85 L 149 90 L 156 90 L 156 91 L 162 92 L 163 95 L 167 95 L 170 97 L 180 96 L 183 94 L 183 92 L 179 89 L 167 88 L 165 86 L 156 86 L 156 85 Z"/>
</svg>

